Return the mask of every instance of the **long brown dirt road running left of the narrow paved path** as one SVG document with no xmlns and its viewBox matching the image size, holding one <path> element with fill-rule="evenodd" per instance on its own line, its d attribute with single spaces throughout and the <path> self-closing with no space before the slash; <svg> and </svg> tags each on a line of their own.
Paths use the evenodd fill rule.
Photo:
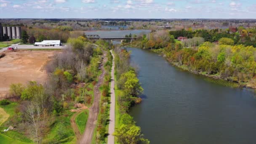
<svg viewBox="0 0 256 144">
<path fill-rule="evenodd" d="M 91 144 L 91 140 L 93 138 L 93 131 L 97 123 L 97 118 L 99 114 L 99 103 L 101 99 L 101 92 L 99 91 L 99 87 L 104 81 L 105 70 L 103 66 L 107 62 L 106 51 L 104 51 L 103 57 L 103 64 L 101 65 L 102 74 L 99 76 L 98 83 L 94 86 L 93 105 L 89 108 L 89 116 L 86 123 L 85 132 L 83 133 L 80 144 Z"/>
</svg>

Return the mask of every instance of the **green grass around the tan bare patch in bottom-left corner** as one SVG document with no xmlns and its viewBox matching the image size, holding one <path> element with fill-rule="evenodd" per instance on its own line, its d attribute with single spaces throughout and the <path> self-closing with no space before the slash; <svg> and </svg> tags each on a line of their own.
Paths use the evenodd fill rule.
<svg viewBox="0 0 256 144">
<path fill-rule="evenodd" d="M 10 118 L 14 115 L 14 111 L 19 104 L 12 102 L 11 104 L 0 106 L 4 112 L 0 113 L 0 117 L 6 117 L 4 115 L 9 115 Z M 7 120 L 8 121 L 8 120 Z M 2 121 L 3 123 L 3 121 Z M 5 125 L 5 123 L 3 123 Z M 17 131 L 8 131 L 3 132 L 4 129 L 7 129 L 8 125 L 0 126 L 0 144 L 27 144 L 32 143 L 32 140 L 24 136 L 24 134 L 18 133 Z M 6 143 L 7 141 L 7 143 Z"/>
</svg>

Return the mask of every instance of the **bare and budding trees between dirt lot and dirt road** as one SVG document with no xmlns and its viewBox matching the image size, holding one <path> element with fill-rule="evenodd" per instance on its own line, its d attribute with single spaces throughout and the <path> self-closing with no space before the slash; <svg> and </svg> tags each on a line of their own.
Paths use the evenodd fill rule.
<svg viewBox="0 0 256 144">
<path fill-rule="evenodd" d="M 69 38 L 68 43 L 69 47 L 56 53 L 45 66 L 48 80 L 44 84 L 30 81 L 27 85 L 10 86 L 9 94 L 18 100 L 19 106 L 7 125 L 16 126 L 15 131 L 24 133 L 38 144 L 74 139 L 69 121 L 64 123 L 59 117 L 65 117 L 73 104 L 87 102 L 76 92 L 74 85 L 96 80 L 101 49 L 93 48 L 83 36 Z M 56 128 L 56 133 L 48 141 L 46 136 L 52 128 Z"/>
</svg>

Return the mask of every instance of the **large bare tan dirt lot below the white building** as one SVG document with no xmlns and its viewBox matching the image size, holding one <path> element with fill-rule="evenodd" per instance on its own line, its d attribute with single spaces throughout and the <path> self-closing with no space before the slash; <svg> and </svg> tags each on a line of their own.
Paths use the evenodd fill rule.
<svg viewBox="0 0 256 144">
<path fill-rule="evenodd" d="M 44 65 L 56 51 L 5 51 L 0 59 L 0 99 L 8 93 L 11 83 L 26 84 L 30 80 L 43 83 L 47 74 Z"/>
</svg>

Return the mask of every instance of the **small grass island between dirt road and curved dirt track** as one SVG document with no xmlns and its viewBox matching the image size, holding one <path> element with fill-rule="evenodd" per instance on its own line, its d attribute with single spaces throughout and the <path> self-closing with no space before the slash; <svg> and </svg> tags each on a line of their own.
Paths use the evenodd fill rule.
<svg viewBox="0 0 256 144">
<path fill-rule="evenodd" d="M 86 109 L 83 112 L 81 112 L 77 117 L 75 118 L 75 123 L 77 124 L 77 127 L 80 131 L 80 133 L 84 133 L 86 122 L 88 119 L 89 110 Z"/>
</svg>

